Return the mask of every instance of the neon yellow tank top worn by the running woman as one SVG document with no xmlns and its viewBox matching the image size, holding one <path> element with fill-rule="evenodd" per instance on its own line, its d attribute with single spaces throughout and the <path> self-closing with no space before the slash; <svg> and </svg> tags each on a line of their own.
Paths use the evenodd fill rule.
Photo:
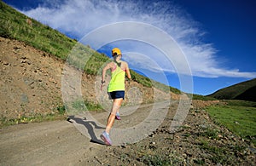
<svg viewBox="0 0 256 166">
<path fill-rule="evenodd" d="M 116 68 L 111 72 L 111 80 L 108 84 L 108 92 L 125 90 L 125 71 L 116 64 Z"/>
</svg>

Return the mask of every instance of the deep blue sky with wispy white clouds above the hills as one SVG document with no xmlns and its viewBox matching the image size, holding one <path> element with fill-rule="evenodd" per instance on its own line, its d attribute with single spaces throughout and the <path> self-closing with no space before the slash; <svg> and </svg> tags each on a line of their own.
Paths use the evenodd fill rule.
<svg viewBox="0 0 256 166">
<path fill-rule="evenodd" d="M 195 94 L 211 94 L 218 89 L 256 77 L 255 1 L 3 2 L 78 40 L 90 31 L 120 21 L 137 21 L 157 27 L 172 37 L 182 49 L 192 73 Z M 150 32 L 152 31 L 148 34 Z M 102 35 L 103 37 L 108 36 L 106 34 Z M 159 75 L 157 70 L 163 71 L 168 83 L 180 89 L 177 64 L 173 64 L 172 60 L 166 60 L 165 54 L 160 53 L 158 49 L 149 47 L 146 43 L 124 40 L 109 42 L 98 51 L 109 54 L 109 49 L 113 46 L 122 49 L 124 59 L 129 62 L 132 69 L 156 80 Z M 150 63 L 150 60 L 157 65 L 152 67 L 153 63 Z"/>
</svg>

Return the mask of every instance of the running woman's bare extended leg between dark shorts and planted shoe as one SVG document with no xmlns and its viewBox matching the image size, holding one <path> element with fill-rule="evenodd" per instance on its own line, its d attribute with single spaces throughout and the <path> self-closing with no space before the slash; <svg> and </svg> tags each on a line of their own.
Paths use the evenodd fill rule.
<svg viewBox="0 0 256 166">
<path fill-rule="evenodd" d="M 107 127 L 106 127 L 106 132 L 109 134 L 110 129 L 113 126 L 114 123 L 114 119 L 115 119 L 115 114 L 116 112 L 119 110 L 120 106 L 122 105 L 123 102 L 123 98 L 119 98 L 119 99 L 114 99 L 113 100 L 113 106 L 112 106 L 112 110 L 109 113 L 108 116 L 108 123 L 107 123 Z"/>
</svg>

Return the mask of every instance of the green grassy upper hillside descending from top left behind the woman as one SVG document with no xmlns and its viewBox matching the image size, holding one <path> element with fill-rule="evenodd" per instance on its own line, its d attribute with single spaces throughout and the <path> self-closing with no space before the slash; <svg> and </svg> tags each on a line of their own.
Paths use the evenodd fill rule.
<svg viewBox="0 0 256 166">
<path fill-rule="evenodd" d="M 96 75 L 100 67 L 109 60 L 105 54 L 97 53 L 90 49 L 89 46 L 84 46 L 76 40 L 71 39 L 60 31 L 56 31 L 49 26 L 45 26 L 21 14 L 9 5 L 0 1 L 0 36 L 5 38 L 12 38 L 33 46 L 36 49 L 41 49 L 49 54 L 54 54 L 61 60 L 67 60 L 70 51 L 76 47 L 76 56 L 69 60 L 69 63 L 79 68 L 83 65 L 82 60 L 90 57 L 86 66 L 82 66 L 84 72 Z M 91 55 L 92 56 L 88 56 Z M 87 56 L 86 56 L 87 55 Z M 162 83 L 157 83 L 136 72 L 131 71 L 132 79 L 146 87 L 156 86 L 158 89 L 171 90 L 173 93 L 180 94 L 178 89 L 166 86 Z"/>
</svg>

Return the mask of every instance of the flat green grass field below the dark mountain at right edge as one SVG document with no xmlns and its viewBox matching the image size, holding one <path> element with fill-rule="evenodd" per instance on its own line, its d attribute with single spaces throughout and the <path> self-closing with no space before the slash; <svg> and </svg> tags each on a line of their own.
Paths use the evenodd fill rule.
<svg viewBox="0 0 256 166">
<path fill-rule="evenodd" d="M 246 105 L 246 106 L 245 106 Z M 208 106 L 214 120 L 242 138 L 256 134 L 256 107 L 254 102 L 229 101 L 226 106 Z M 253 140 L 255 144 L 255 140 Z"/>
</svg>

